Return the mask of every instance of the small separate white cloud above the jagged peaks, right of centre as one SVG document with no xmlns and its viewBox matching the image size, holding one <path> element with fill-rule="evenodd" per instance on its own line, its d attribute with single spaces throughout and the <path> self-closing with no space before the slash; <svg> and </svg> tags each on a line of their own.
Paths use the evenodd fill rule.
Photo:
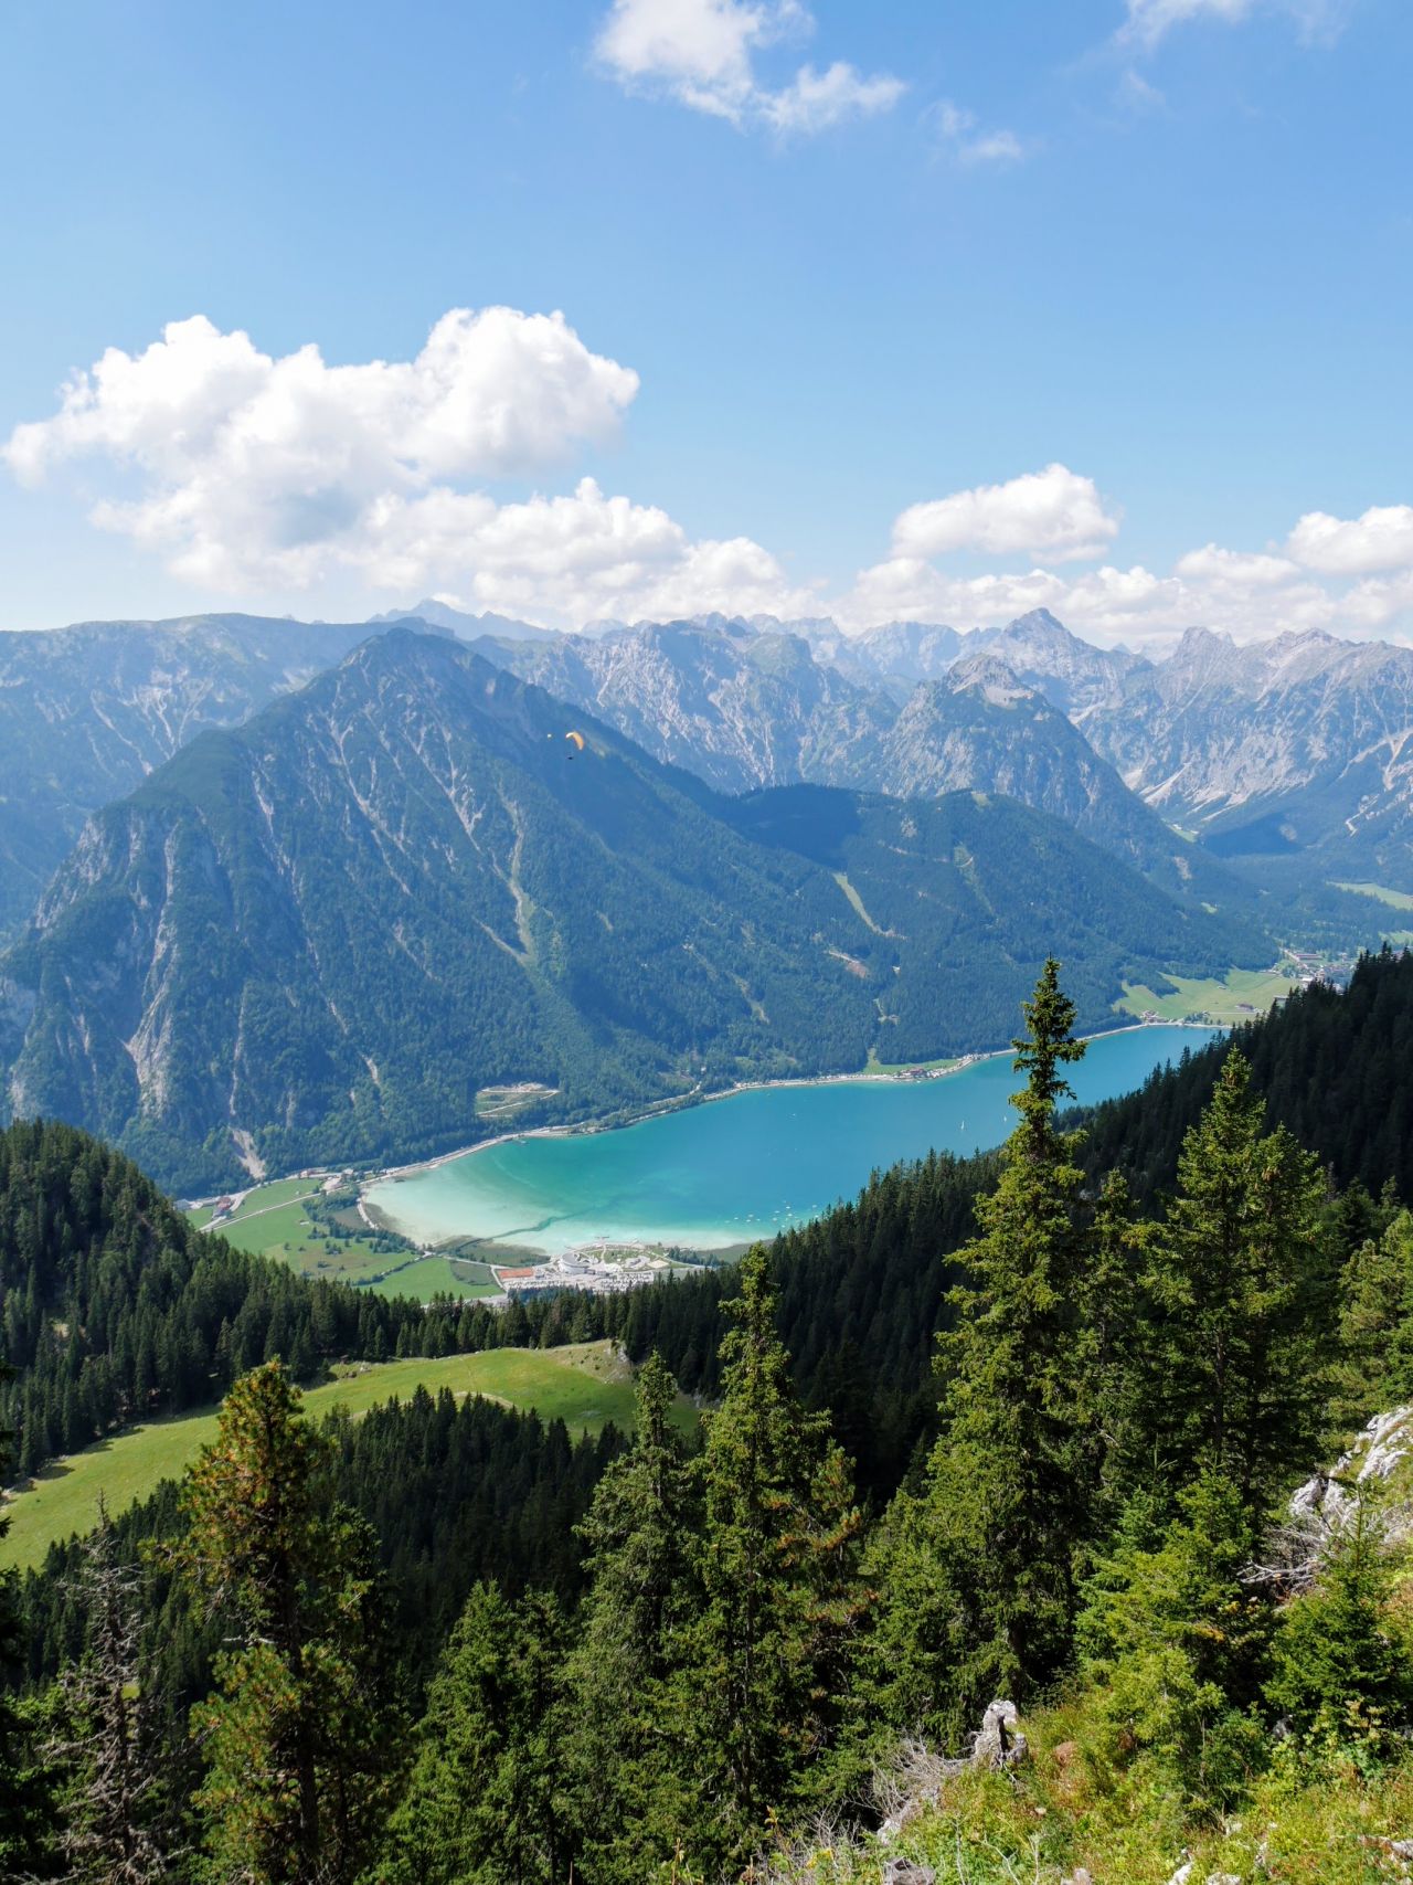
<svg viewBox="0 0 1413 1885">
<path fill-rule="evenodd" d="M 978 484 L 910 505 L 893 524 L 893 554 L 983 550 L 1010 556 L 1019 550 L 1074 562 L 1102 556 L 1117 530 L 1119 518 L 1104 507 L 1095 481 L 1051 464 L 1006 484 Z"/>
</svg>

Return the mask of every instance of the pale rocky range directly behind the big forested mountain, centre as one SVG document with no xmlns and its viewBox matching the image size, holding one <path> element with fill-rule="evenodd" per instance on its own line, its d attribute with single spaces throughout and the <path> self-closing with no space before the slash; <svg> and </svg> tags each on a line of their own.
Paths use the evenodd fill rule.
<svg viewBox="0 0 1413 1885">
<path fill-rule="evenodd" d="M 1038 633 L 1034 624 L 1031 631 Z M 1059 635 L 1074 639 L 1064 630 Z M 1046 635 L 1046 643 L 1063 652 L 1055 637 Z M 1178 899 L 1228 912 L 1253 901 L 1230 873 L 1164 826 L 1064 713 L 995 654 L 953 662 L 942 679 L 916 682 L 899 703 L 878 684 L 821 665 L 818 647 L 801 635 L 742 622 L 673 622 L 597 641 L 563 635 L 533 648 L 509 641 L 477 647 L 722 792 L 814 782 L 891 797 L 1004 794 L 1064 818 Z"/>
</svg>

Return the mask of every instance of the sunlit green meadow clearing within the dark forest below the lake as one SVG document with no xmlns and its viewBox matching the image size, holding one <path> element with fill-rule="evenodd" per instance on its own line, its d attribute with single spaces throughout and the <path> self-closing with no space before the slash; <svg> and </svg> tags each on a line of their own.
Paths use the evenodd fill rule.
<svg viewBox="0 0 1413 1885">
<path fill-rule="evenodd" d="M 563 1419 L 571 1433 L 597 1433 L 609 1421 L 633 1425 L 633 1370 L 607 1342 L 354 1363 L 339 1380 L 309 1389 L 305 1408 L 315 1416 L 333 1406 L 365 1414 L 394 1395 L 405 1401 L 418 1385 L 430 1393 L 450 1387 L 456 1395 L 486 1395 L 507 1406 L 533 1408 L 544 1419 Z M 697 1418 L 691 1402 L 680 1401 L 676 1418 L 684 1429 L 691 1427 Z M 162 1480 L 181 1478 L 215 1431 L 215 1412 L 187 1414 L 149 1421 L 57 1461 L 6 1506 L 13 1523 L 0 1542 L 0 1568 L 40 1565 L 51 1544 L 89 1531 L 100 1493 L 107 1510 L 119 1514 L 147 1499 Z"/>
</svg>

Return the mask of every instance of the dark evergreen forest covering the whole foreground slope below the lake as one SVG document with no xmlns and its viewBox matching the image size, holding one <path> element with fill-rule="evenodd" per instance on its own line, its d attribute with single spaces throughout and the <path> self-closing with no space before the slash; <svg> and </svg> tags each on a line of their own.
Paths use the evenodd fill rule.
<svg viewBox="0 0 1413 1885">
<path fill-rule="evenodd" d="M 11 1125 L 0 1478 L 220 1421 L 0 1578 L 0 1877 L 1405 1877 L 1413 958 L 1085 1116 L 1081 1056 L 1048 961 L 999 1152 L 503 1312 L 292 1278 Z M 629 1434 L 301 1406 L 335 1359 L 586 1338 Z"/>
</svg>

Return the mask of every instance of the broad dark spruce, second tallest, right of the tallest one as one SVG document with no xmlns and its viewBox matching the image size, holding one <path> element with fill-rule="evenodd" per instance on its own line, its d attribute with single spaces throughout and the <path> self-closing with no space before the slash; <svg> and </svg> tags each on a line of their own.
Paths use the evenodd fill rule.
<svg viewBox="0 0 1413 1885">
<path fill-rule="evenodd" d="M 1319 1161 L 1228 1054 L 1149 1242 L 1145 1438 L 1174 1487 L 1226 1474 L 1255 1512 L 1323 1436 L 1334 1287 Z"/>
</svg>

